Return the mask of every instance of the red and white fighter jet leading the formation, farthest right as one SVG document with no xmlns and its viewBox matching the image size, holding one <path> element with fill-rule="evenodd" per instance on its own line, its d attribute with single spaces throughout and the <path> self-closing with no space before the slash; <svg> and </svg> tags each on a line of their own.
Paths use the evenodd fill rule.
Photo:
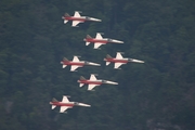
<svg viewBox="0 0 195 130">
<path fill-rule="evenodd" d="M 109 63 L 115 63 L 114 68 L 119 68 L 122 64 L 127 64 L 128 62 L 134 62 L 134 63 L 144 63 L 144 61 L 134 60 L 134 58 L 123 58 L 121 55 L 121 52 L 117 52 L 116 57 L 112 57 L 109 54 L 106 55 L 106 58 L 104 58 L 106 62 L 106 65 L 109 65 Z"/>
</svg>

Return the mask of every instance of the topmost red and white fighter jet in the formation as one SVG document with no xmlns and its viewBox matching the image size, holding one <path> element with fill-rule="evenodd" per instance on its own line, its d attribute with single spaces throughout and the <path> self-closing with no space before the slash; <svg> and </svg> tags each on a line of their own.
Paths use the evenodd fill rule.
<svg viewBox="0 0 195 130">
<path fill-rule="evenodd" d="M 62 18 L 64 20 L 64 24 L 66 24 L 68 21 L 73 21 L 73 24 L 72 24 L 73 27 L 86 21 L 102 22 L 102 20 L 98 20 L 98 18 L 93 18 L 89 16 L 81 16 L 79 14 L 79 11 L 75 11 L 74 16 L 70 16 L 68 13 L 65 13 L 64 16 L 62 16 Z"/>
</svg>

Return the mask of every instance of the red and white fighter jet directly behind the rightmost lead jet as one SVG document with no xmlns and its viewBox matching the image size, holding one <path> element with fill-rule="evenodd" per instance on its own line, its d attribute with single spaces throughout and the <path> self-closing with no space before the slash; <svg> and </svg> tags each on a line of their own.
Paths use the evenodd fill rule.
<svg viewBox="0 0 195 130">
<path fill-rule="evenodd" d="M 61 62 L 63 64 L 63 68 L 65 68 L 67 65 L 70 65 L 70 72 L 75 72 L 78 67 L 83 67 L 84 65 L 93 65 L 93 66 L 101 66 L 100 64 L 87 62 L 87 61 L 79 61 L 78 56 L 74 56 L 73 61 L 68 61 L 66 57 L 63 58 Z"/>
</svg>

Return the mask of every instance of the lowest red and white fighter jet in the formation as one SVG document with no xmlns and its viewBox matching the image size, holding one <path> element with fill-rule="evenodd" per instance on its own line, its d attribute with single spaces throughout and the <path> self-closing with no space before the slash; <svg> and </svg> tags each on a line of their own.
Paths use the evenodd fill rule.
<svg viewBox="0 0 195 130">
<path fill-rule="evenodd" d="M 74 106 L 86 106 L 86 107 L 91 107 L 91 105 L 84 104 L 84 103 L 78 103 L 78 102 L 69 102 L 67 99 L 69 96 L 63 95 L 62 102 L 58 102 L 56 99 L 52 99 L 52 102 L 50 104 L 52 105 L 52 109 L 54 109 L 56 106 L 60 106 L 60 113 L 66 113 L 65 110 L 67 108 L 73 108 Z"/>
</svg>

